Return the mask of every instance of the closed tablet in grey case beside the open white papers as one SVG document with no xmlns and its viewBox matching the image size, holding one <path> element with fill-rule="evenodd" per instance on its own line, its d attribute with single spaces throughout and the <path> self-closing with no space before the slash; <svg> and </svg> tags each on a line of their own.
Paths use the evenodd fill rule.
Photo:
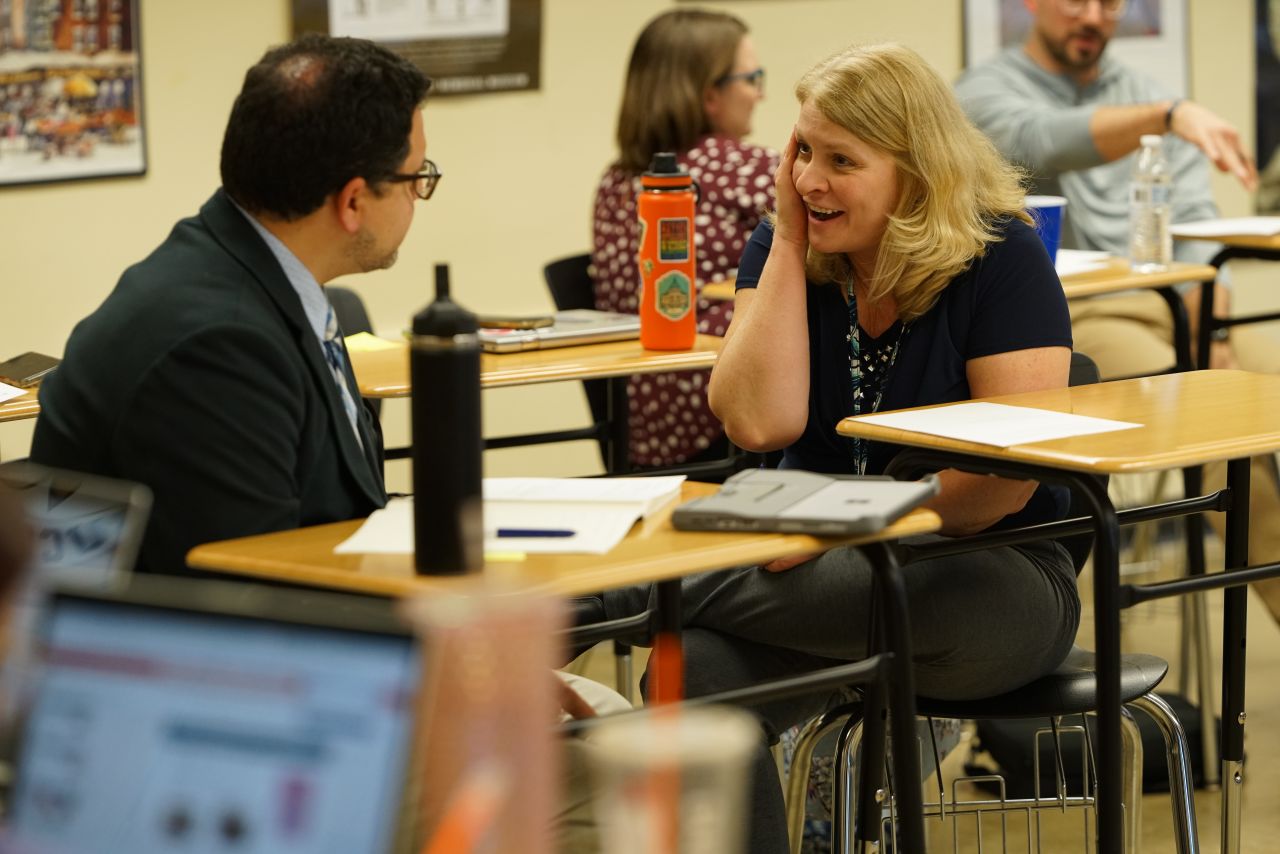
<svg viewBox="0 0 1280 854">
<path fill-rule="evenodd" d="M 726 480 L 714 495 L 677 507 L 671 521 L 689 531 L 870 534 L 936 494 L 938 481 L 932 476 L 893 480 L 749 469 Z"/>
</svg>

